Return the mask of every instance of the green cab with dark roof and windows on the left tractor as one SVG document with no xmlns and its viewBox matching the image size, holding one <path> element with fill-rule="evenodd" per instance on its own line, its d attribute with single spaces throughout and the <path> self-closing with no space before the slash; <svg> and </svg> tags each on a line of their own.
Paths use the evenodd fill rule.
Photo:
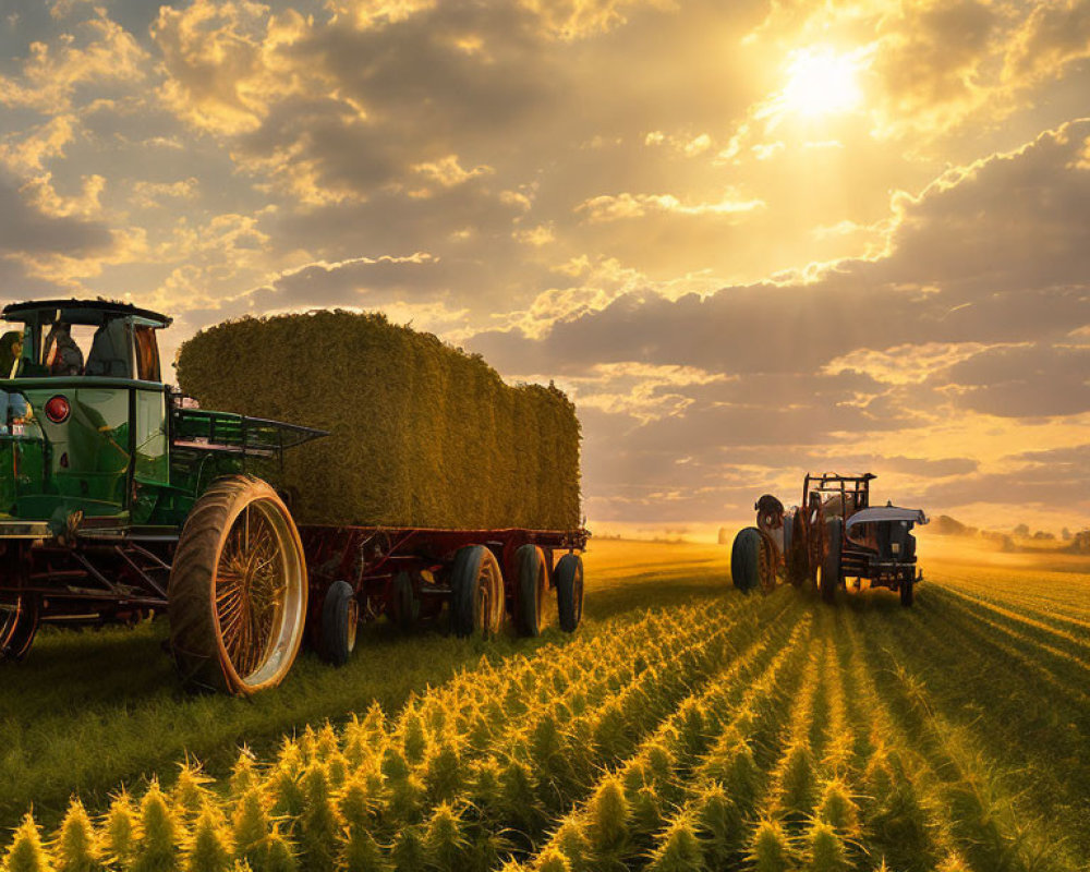
<svg viewBox="0 0 1090 872">
<path fill-rule="evenodd" d="M 15 303 L 0 314 L 10 367 L 0 373 L 0 536 L 41 522 L 57 534 L 83 518 L 146 517 L 140 489 L 169 483 L 156 330 L 170 318 L 105 300 Z"/>
</svg>

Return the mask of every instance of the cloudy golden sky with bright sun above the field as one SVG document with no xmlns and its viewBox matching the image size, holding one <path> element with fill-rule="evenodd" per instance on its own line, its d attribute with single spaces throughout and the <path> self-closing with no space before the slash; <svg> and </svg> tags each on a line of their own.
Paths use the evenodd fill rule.
<svg viewBox="0 0 1090 872">
<path fill-rule="evenodd" d="M 1090 0 L 0 0 L 0 301 L 73 295 L 554 379 L 602 530 L 1077 530 Z"/>
</svg>

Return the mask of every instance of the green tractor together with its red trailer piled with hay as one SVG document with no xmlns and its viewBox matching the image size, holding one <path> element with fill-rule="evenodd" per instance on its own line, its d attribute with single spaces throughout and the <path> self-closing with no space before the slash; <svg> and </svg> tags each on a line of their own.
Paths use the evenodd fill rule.
<svg viewBox="0 0 1090 872">
<path fill-rule="evenodd" d="M 508 387 L 480 359 L 379 316 L 317 313 L 220 325 L 183 346 L 191 393 L 239 399 L 208 411 L 161 378 L 164 315 L 101 300 L 2 315 L 13 329 L 0 340 L 0 661 L 25 656 L 43 623 L 166 611 L 184 685 L 249 695 L 284 678 L 304 639 L 344 663 L 359 625 L 384 615 L 409 625 L 446 606 L 458 635 L 494 634 L 507 616 L 537 635 L 555 590 L 561 629 L 579 625 L 589 534 L 578 422 L 559 391 Z M 358 334 L 347 343 L 343 330 L 314 343 L 315 329 L 346 325 Z M 270 344 L 277 330 L 287 347 Z M 361 337 L 371 344 L 352 344 Z M 358 366 L 346 370 L 346 350 Z M 459 414 L 421 383 L 410 411 L 429 417 L 409 421 L 393 374 L 425 368 L 448 392 L 472 376 L 470 393 L 489 388 L 495 408 Z M 347 419 L 327 408 L 346 398 Z M 253 412 L 295 400 L 336 420 Z M 519 453 L 505 461 L 523 481 L 514 502 L 474 465 L 497 453 Z"/>
</svg>

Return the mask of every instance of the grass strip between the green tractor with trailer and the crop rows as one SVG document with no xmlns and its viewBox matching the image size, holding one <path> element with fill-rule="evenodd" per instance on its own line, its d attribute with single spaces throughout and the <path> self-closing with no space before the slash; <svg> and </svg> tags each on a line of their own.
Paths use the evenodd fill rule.
<svg viewBox="0 0 1090 872">
<path fill-rule="evenodd" d="M 595 543 L 585 569 L 583 634 L 602 632 L 625 613 L 729 590 L 722 552 L 712 546 Z M 43 632 L 24 663 L 0 666 L 0 827 L 17 824 L 32 803 L 41 822 L 56 823 L 73 794 L 102 809 L 121 783 L 138 786 L 152 775 L 171 782 L 186 754 L 222 775 L 242 743 L 267 753 L 284 734 L 342 722 L 373 701 L 396 711 L 482 656 L 498 664 L 569 641 L 554 628 L 533 641 L 468 643 L 441 627 L 405 635 L 380 621 L 362 634 L 344 668 L 304 653 L 280 688 L 235 700 L 185 694 L 161 649 L 166 638 L 165 621 Z"/>
</svg>

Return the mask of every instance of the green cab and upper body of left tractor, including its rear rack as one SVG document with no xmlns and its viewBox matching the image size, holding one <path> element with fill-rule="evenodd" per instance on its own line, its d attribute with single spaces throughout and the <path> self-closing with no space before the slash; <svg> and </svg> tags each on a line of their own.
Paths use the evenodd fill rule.
<svg viewBox="0 0 1090 872">
<path fill-rule="evenodd" d="M 0 542 L 177 537 L 216 477 L 275 481 L 286 448 L 326 435 L 165 385 L 156 331 L 171 319 L 156 312 L 64 300 L 0 316 Z"/>
</svg>

